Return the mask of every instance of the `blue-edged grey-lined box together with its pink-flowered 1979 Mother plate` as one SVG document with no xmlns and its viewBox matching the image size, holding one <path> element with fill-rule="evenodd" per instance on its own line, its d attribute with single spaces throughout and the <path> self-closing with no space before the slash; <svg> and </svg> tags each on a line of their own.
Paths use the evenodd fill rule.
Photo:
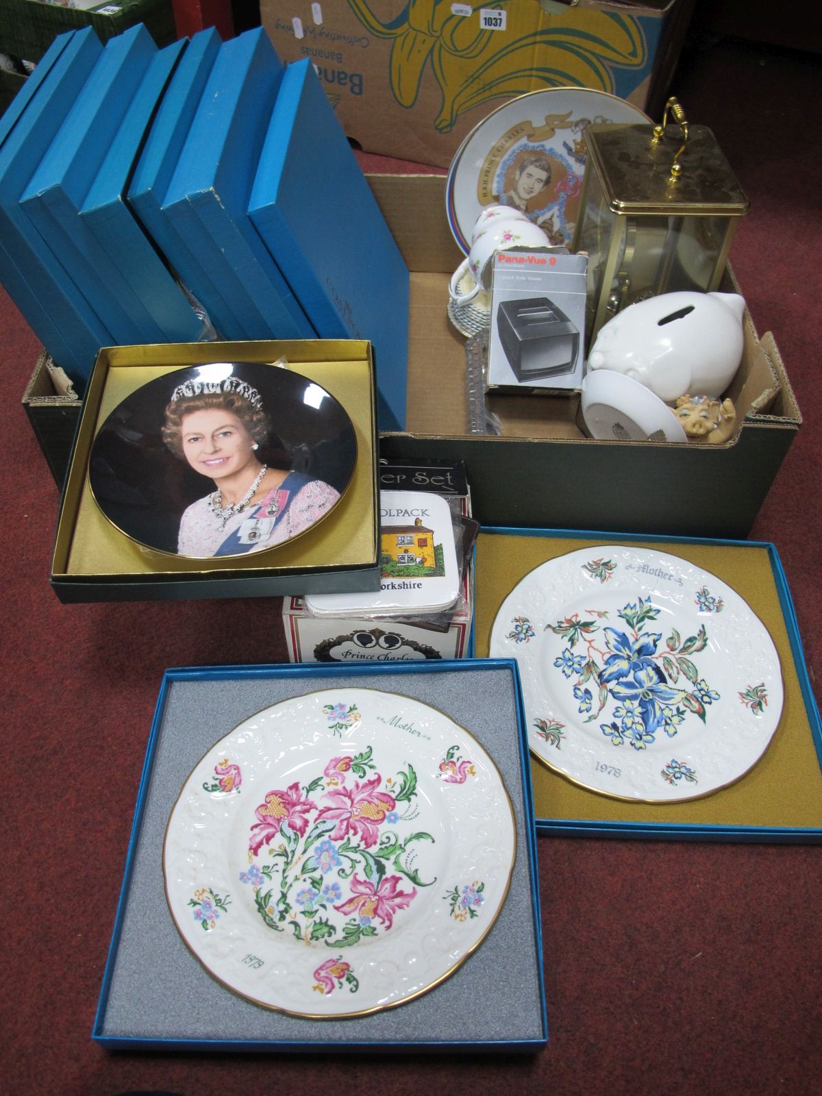
<svg viewBox="0 0 822 1096">
<path fill-rule="evenodd" d="M 287 792 L 270 790 L 278 781 Z M 362 823 L 351 811 L 339 827 L 323 821 L 346 795 L 359 797 Z M 265 813 L 283 796 L 285 827 Z M 225 840 L 229 814 L 239 841 Z M 315 872 L 289 882 L 289 912 L 273 895 L 285 887 L 282 856 L 269 855 L 277 826 L 306 865 L 312 841 L 320 865 L 317 886 Z M 107 1049 L 540 1050 L 536 834 L 514 663 L 167 671 L 93 1037 Z"/>
</svg>

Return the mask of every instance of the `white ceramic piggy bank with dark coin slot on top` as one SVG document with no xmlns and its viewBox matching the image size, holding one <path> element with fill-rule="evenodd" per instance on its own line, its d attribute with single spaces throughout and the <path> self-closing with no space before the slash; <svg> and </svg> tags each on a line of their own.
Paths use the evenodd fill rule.
<svg viewBox="0 0 822 1096">
<path fill-rule="evenodd" d="M 591 369 L 615 369 L 673 403 L 721 396 L 742 359 L 745 301 L 735 293 L 665 293 L 629 305 L 600 330 Z"/>
</svg>

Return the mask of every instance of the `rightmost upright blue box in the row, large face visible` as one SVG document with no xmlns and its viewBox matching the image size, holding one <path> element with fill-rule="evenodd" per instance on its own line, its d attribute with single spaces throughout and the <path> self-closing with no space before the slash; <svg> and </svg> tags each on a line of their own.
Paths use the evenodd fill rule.
<svg viewBox="0 0 822 1096">
<path fill-rule="evenodd" d="M 249 215 L 321 339 L 368 339 L 383 430 L 406 426 L 409 273 L 308 59 L 283 76 Z"/>
</svg>

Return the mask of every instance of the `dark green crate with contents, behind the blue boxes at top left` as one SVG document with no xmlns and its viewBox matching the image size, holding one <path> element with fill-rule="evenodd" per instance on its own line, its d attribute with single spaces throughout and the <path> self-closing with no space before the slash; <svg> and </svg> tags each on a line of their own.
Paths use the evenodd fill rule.
<svg viewBox="0 0 822 1096">
<path fill-rule="evenodd" d="M 102 9 L 102 11 L 100 10 Z M 172 0 L 117 0 L 96 11 L 41 3 L 39 0 L 3 0 L 0 4 L 0 52 L 26 61 L 38 61 L 64 31 L 91 26 L 101 42 L 144 23 L 158 46 L 176 38 Z"/>
</svg>

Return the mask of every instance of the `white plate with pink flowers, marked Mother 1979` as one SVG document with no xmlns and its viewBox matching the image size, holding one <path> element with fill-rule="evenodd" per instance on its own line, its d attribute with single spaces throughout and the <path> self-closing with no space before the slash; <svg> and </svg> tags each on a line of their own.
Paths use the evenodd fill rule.
<svg viewBox="0 0 822 1096">
<path fill-rule="evenodd" d="M 169 819 L 165 893 L 205 969 L 298 1016 L 359 1016 L 447 978 L 502 909 L 516 853 L 489 754 L 442 711 L 333 688 L 236 727 Z"/>
</svg>

